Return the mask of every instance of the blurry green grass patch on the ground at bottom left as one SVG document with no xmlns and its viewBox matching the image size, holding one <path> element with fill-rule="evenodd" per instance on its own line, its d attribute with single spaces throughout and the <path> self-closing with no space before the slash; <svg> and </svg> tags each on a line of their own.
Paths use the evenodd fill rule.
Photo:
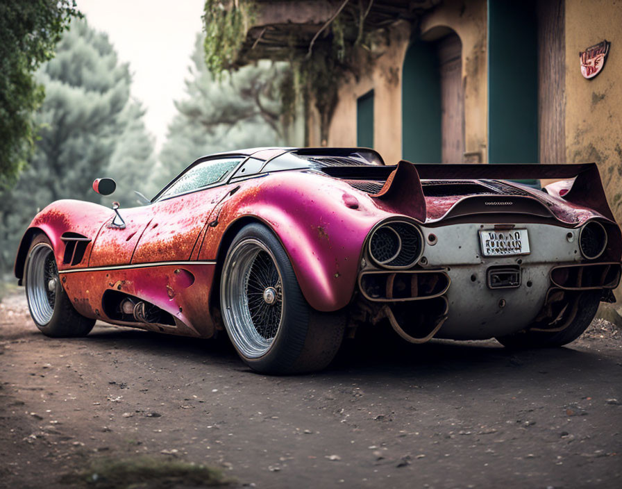
<svg viewBox="0 0 622 489">
<path fill-rule="evenodd" d="M 221 471 L 205 465 L 136 457 L 99 458 L 86 470 L 65 474 L 60 482 L 96 489 L 167 489 L 226 486 L 232 481 Z"/>
</svg>

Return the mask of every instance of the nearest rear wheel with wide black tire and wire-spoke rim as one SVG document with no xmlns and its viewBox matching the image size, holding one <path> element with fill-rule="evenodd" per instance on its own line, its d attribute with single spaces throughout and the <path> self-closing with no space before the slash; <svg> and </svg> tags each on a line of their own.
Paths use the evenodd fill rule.
<svg viewBox="0 0 622 489">
<path fill-rule="evenodd" d="M 266 267 L 271 266 L 268 259 L 271 258 L 276 268 L 276 274 L 271 268 L 264 269 L 271 271 L 268 275 L 275 283 L 266 287 L 262 295 L 251 292 L 253 268 L 258 266 L 255 264 L 260 255 Z M 265 275 L 257 273 L 256 276 Z M 257 283 L 254 290 L 261 290 L 264 285 L 267 284 Z M 276 299 L 266 298 L 268 288 L 276 292 Z M 240 358 L 256 372 L 315 372 L 326 367 L 337 354 L 344 337 L 344 315 L 320 313 L 308 304 L 283 245 L 266 226 L 249 224 L 236 235 L 227 252 L 220 291 L 221 313 L 228 336 Z M 251 297 L 253 295 L 260 297 Z M 269 309 L 271 307 L 278 307 L 278 311 L 263 316 L 256 312 L 258 308 L 260 311 L 276 310 Z M 239 319 L 244 317 L 248 320 Z M 272 333 L 274 329 L 263 329 L 264 324 L 260 323 L 267 321 L 266 317 L 274 320 L 272 328 L 277 323 L 274 318 L 278 317 L 276 333 Z"/>
</svg>

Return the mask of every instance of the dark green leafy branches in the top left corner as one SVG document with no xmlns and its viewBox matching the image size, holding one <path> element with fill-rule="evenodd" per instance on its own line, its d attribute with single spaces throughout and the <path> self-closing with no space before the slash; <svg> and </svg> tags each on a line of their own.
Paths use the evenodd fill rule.
<svg viewBox="0 0 622 489">
<path fill-rule="evenodd" d="M 44 91 L 33 73 L 80 16 L 74 0 L 0 2 L 0 189 L 15 182 L 34 147 Z"/>
</svg>

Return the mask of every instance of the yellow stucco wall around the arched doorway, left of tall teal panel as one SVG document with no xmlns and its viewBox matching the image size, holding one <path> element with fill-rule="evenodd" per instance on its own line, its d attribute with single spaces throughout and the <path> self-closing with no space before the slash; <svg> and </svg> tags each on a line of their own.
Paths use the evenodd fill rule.
<svg viewBox="0 0 622 489">
<path fill-rule="evenodd" d="M 462 83 L 464 86 L 464 117 L 467 160 L 487 161 L 487 60 L 486 1 L 465 3 L 444 2 L 421 19 L 423 38 L 432 40 L 451 28 L 462 41 Z M 402 158 L 402 69 L 410 44 L 411 26 L 394 24 L 387 45 L 378 47 L 376 63 L 369 73 L 344 83 L 339 90 L 339 103 L 330 124 L 328 146 L 356 145 L 356 101 L 374 90 L 374 147 L 387 163 Z M 310 106 L 308 119 L 309 144 L 321 145 L 319 117 Z"/>
</svg>

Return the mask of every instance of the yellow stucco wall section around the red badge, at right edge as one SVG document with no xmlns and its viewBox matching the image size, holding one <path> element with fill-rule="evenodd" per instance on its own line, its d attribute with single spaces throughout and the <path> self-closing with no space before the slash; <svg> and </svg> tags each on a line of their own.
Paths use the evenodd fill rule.
<svg viewBox="0 0 622 489">
<path fill-rule="evenodd" d="M 622 1 L 566 0 L 566 160 L 596 162 L 622 223 Z M 586 80 L 579 52 L 606 39 L 603 72 Z"/>
</svg>

